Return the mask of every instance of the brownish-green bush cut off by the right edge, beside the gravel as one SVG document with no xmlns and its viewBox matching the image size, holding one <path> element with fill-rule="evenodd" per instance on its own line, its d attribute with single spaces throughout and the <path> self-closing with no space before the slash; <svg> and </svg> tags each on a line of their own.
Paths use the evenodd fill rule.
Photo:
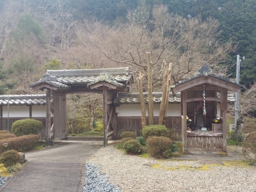
<svg viewBox="0 0 256 192">
<path fill-rule="evenodd" d="M 256 165 L 256 131 L 249 133 L 243 143 L 243 155 L 251 165 Z"/>
</svg>

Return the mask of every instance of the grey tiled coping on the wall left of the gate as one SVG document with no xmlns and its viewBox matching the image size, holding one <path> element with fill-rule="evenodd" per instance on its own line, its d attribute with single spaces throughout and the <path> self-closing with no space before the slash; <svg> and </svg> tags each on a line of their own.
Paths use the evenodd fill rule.
<svg viewBox="0 0 256 192">
<path fill-rule="evenodd" d="M 9 105 L 46 105 L 46 95 L 0 95 L 0 105 L 8 102 Z"/>
</svg>

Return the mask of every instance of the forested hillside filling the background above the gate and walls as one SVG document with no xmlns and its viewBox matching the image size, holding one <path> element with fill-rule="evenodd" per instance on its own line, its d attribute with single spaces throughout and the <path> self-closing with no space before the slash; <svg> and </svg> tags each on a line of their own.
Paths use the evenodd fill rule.
<svg viewBox="0 0 256 192">
<path fill-rule="evenodd" d="M 234 79 L 240 54 L 242 103 L 252 114 L 255 23 L 254 0 L 2 0 L 0 94 L 34 93 L 29 85 L 46 69 L 130 66 L 136 77 L 147 71 L 146 52 L 154 91 L 164 59 L 173 63 L 172 84 L 202 65 Z"/>
</svg>

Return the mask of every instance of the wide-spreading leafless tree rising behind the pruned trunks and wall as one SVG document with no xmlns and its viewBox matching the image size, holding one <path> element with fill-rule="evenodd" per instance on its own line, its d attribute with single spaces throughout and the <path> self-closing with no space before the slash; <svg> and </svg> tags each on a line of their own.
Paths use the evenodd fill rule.
<svg viewBox="0 0 256 192">
<path fill-rule="evenodd" d="M 86 22 L 83 41 L 116 66 L 131 66 L 145 74 L 148 68 L 145 52 L 150 52 L 154 86 L 161 84 L 159 71 L 164 59 L 173 62 L 171 84 L 176 84 L 184 75 L 192 76 L 202 65 L 214 67 L 231 49 L 229 44 L 220 45 L 215 40 L 219 26 L 216 20 L 186 20 L 169 14 L 163 5 L 154 7 L 152 20 L 146 12 L 130 13 L 130 22 L 114 27 Z M 135 18 L 137 14 L 143 17 Z"/>
</svg>

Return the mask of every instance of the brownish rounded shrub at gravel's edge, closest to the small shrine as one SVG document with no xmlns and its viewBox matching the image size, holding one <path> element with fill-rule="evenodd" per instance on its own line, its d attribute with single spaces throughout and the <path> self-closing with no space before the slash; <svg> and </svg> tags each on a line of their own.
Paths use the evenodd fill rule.
<svg viewBox="0 0 256 192">
<path fill-rule="evenodd" d="M 172 155 L 172 140 L 163 136 L 151 136 L 147 139 L 147 152 L 155 158 L 169 158 Z"/>
</svg>

